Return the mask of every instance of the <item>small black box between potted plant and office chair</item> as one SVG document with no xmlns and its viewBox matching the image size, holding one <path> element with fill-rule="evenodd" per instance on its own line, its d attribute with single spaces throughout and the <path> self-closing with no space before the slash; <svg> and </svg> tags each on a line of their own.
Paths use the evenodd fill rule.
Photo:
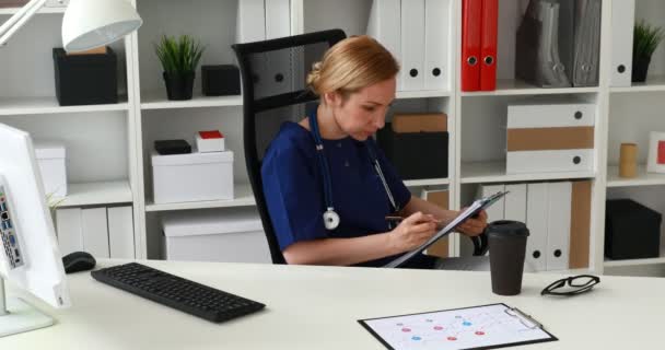
<svg viewBox="0 0 665 350">
<path fill-rule="evenodd" d="M 241 94 L 241 72 L 233 65 L 201 66 L 201 89 L 206 96 Z"/>
</svg>

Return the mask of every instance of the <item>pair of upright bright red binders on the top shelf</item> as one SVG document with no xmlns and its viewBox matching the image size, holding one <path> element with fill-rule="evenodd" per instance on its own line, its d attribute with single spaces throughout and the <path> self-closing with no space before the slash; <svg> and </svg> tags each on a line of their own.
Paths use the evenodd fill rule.
<svg viewBox="0 0 665 350">
<path fill-rule="evenodd" d="M 498 0 L 462 2 L 462 91 L 497 89 Z"/>
</svg>

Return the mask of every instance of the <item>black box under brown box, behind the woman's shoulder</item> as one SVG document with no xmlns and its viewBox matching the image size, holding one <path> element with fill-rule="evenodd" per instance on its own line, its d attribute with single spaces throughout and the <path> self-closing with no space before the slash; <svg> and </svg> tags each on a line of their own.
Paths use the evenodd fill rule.
<svg viewBox="0 0 665 350">
<path fill-rule="evenodd" d="M 401 178 L 448 177 L 447 131 L 395 132 L 387 122 L 376 137 Z"/>
</svg>

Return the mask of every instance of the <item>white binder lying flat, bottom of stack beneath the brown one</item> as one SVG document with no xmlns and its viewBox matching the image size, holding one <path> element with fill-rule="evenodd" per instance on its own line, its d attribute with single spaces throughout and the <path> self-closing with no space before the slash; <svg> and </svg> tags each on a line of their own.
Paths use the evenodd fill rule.
<svg viewBox="0 0 665 350">
<path fill-rule="evenodd" d="M 508 174 L 591 172 L 593 156 L 593 149 L 506 152 L 505 172 Z"/>
</svg>

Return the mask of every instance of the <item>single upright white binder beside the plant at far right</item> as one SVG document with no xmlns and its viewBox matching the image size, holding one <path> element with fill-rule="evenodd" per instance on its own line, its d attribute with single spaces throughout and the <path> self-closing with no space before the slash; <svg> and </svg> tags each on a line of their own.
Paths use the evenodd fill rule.
<svg viewBox="0 0 665 350">
<path fill-rule="evenodd" d="M 635 0 L 611 2 L 611 86 L 630 86 Z"/>
</svg>

